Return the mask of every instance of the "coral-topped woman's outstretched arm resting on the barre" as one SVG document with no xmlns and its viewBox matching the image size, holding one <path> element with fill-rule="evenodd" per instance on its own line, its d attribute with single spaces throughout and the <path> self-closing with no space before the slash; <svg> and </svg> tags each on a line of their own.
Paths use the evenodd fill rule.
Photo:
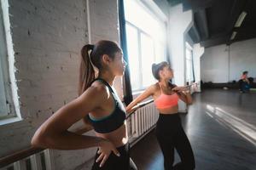
<svg viewBox="0 0 256 170">
<path fill-rule="evenodd" d="M 131 113 L 132 111 L 137 110 L 137 104 L 142 102 L 144 99 L 147 99 L 149 96 L 153 95 L 155 91 L 155 86 L 152 85 L 149 88 L 147 88 L 143 94 L 140 94 L 136 99 L 134 99 L 131 104 L 127 105 L 126 111 L 127 113 Z"/>
</svg>

